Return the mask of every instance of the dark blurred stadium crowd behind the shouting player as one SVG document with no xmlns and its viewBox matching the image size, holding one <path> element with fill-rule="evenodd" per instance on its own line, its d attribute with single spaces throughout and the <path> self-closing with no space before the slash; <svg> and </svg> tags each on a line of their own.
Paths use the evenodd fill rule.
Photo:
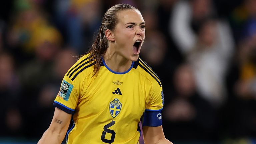
<svg viewBox="0 0 256 144">
<path fill-rule="evenodd" d="M 140 57 L 163 83 L 166 138 L 255 144 L 256 0 L 2 1 L 0 141 L 42 136 L 63 76 L 117 3 L 146 22 Z"/>
</svg>

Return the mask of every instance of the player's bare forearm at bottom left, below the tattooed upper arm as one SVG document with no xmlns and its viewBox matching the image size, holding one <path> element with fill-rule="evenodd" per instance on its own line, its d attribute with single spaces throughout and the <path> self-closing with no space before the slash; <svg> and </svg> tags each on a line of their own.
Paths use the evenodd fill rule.
<svg viewBox="0 0 256 144">
<path fill-rule="evenodd" d="M 54 132 L 50 128 L 47 129 L 38 144 L 60 144 L 65 137 L 64 132 Z"/>
</svg>

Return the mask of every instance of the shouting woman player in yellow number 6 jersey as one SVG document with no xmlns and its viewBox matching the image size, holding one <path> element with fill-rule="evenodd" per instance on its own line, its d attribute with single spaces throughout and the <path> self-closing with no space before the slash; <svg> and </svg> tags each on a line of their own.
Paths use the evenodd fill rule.
<svg viewBox="0 0 256 144">
<path fill-rule="evenodd" d="M 139 10 L 111 7 L 90 51 L 64 76 L 53 120 L 39 143 L 61 143 L 70 119 L 70 144 L 138 143 L 141 119 L 146 143 L 171 143 L 162 130 L 162 84 L 139 58 L 144 38 Z"/>
</svg>

